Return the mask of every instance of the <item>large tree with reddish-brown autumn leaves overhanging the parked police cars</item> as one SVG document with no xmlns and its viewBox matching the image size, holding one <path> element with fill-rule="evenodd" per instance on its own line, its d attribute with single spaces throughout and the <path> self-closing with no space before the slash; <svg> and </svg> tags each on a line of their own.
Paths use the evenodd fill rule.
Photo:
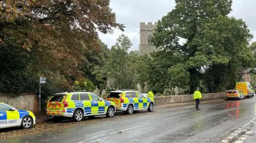
<svg viewBox="0 0 256 143">
<path fill-rule="evenodd" d="M 87 52 L 99 51 L 98 31 L 124 28 L 116 23 L 109 1 L 103 0 L 10 0 L 1 1 L 0 10 L 1 49 L 28 51 L 27 72 L 67 83 L 83 78 L 78 68 Z"/>
</svg>

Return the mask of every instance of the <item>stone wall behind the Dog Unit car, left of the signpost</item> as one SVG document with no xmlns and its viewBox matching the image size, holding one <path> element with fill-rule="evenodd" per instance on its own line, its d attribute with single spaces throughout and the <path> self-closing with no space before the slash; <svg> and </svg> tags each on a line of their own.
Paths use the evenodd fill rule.
<svg viewBox="0 0 256 143">
<path fill-rule="evenodd" d="M 35 94 L 21 94 L 14 98 L 1 94 L 0 102 L 11 105 L 18 110 L 28 110 L 35 114 L 39 112 L 38 98 Z"/>
</svg>

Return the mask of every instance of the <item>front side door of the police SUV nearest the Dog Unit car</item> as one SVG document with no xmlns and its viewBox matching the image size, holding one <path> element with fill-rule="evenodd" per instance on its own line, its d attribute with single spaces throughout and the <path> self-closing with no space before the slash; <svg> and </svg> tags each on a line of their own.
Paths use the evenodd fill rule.
<svg viewBox="0 0 256 143">
<path fill-rule="evenodd" d="M 92 114 L 102 114 L 105 111 L 105 102 L 100 101 L 100 97 L 90 93 L 92 103 Z"/>
</svg>

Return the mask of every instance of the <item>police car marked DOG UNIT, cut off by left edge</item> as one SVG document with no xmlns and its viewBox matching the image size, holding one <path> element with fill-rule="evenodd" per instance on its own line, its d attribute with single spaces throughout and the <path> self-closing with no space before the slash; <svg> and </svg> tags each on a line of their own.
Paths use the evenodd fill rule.
<svg viewBox="0 0 256 143">
<path fill-rule="evenodd" d="M 17 110 L 14 107 L 0 103 L 0 129 L 9 127 L 31 128 L 36 123 L 33 112 Z"/>
</svg>

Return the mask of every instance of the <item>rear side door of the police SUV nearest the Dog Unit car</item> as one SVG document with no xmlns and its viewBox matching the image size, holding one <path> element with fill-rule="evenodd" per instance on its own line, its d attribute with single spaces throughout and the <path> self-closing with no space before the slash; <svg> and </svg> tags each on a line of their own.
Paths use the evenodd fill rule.
<svg viewBox="0 0 256 143">
<path fill-rule="evenodd" d="M 84 105 L 84 115 L 92 114 L 92 103 L 89 94 L 80 94 L 80 100 Z"/>
</svg>

